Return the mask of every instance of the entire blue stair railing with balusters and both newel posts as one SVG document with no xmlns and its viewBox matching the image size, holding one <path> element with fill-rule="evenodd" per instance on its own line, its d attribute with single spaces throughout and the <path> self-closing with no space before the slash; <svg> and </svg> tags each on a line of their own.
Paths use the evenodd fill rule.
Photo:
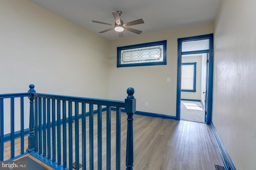
<svg viewBox="0 0 256 170">
<path fill-rule="evenodd" d="M 136 111 L 134 89 L 127 89 L 124 101 L 103 100 L 95 98 L 81 98 L 53 94 L 40 94 L 30 84 L 28 93 L 0 94 L 0 160 L 4 160 L 4 98 L 11 100 L 11 159 L 26 153 L 42 160 L 55 169 L 86 169 L 88 162 L 90 170 L 94 169 L 94 114 L 97 114 L 97 168 L 102 169 L 102 114 L 106 114 L 106 169 L 111 169 L 111 110 L 116 110 L 116 170 L 120 170 L 121 162 L 121 108 L 127 113 L 126 138 L 126 170 L 133 166 L 133 114 Z M 14 100 L 20 98 L 20 138 L 24 150 L 24 100 L 30 100 L 28 149 L 14 155 Z M 23 111 L 22 111 L 23 110 Z M 79 114 L 80 113 L 80 114 Z M 89 117 L 89 129 L 86 120 Z M 79 120 L 81 123 L 79 124 Z M 74 127 L 73 127 L 74 124 Z M 81 125 L 82 128 L 79 128 Z M 80 131 L 82 135 L 80 135 Z M 89 131 L 89 139 L 86 137 Z M 74 133 L 74 138 L 73 138 Z M 74 147 L 73 147 L 74 142 Z M 86 144 L 89 143 L 89 150 Z M 22 150 L 22 148 L 21 148 Z M 87 153 L 88 152 L 88 153 Z M 105 152 L 105 151 L 104 151 Z M 80 153 L 82 153 L 80 155 Z M 74 154 L 74 155 L 73 155 Z M 89 154 L 89 160 L 86 155 Z M 80 161 L 80 157 L 82 160 Z"/>
</svg>

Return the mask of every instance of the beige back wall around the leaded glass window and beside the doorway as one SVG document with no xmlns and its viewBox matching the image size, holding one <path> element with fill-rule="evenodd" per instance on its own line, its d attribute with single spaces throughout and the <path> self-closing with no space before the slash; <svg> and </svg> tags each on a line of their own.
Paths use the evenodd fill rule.
<svg viewBox="0 0 256 170">
<path fill-rule="evenodd" d="M 213 25 L 201 25 L 127 37 L 110 43 L 109 97 L 123 100 L 132 86 L 137 110 L 176 116 L 177 39 L 213 33 Z M 167 40 L 167 65 L 116 68 L 116 47 Z M 171 82 L 167 82 L 167 78 Z M 145 106 L 148 102 L 148 106 Z"/>
</svg>

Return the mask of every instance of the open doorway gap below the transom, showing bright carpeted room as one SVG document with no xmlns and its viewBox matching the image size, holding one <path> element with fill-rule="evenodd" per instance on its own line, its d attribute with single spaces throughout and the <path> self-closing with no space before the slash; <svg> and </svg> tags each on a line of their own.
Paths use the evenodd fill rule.
<svg viewBox="0 0 256 170">
<path fill-rule="evenodd" d="M 182 55 L 181 120 L 205 122 L 207 57 L 208 53 Z"/>
</svg>

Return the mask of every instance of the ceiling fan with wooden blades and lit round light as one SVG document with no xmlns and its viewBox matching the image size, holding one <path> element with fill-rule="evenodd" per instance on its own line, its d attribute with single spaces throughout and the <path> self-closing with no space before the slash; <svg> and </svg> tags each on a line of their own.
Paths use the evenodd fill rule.
<svg viewBox="0 0 256 170">
<path fill-rule="evenodd" d="M 99 33 L 104 33 L 104 32 L 107 32 L 107 31 L 110 31 L 110 30 L 114 29 L 115 31 L 118 32 L 119 38 L 124 37 L 124 33 L 123 33 L 124 30 L 131 31 L 131 32 L 136 33 L 136 34 L 142 33 L 142 31 L 140 31 L 140 30 L 128 27 L 128 26 L 131 26 L 131 25 L 137 25 L 137 24 L 144 23 L 144 21 L 142 19 L 134 20 L 134 21 L 130 21 L 130 22 L 124 23 L 120 19 L 120 16 L 122 15 L 122 11 L 112 12 L 112 14 L 113 14 L 114 19 L 115 19 L 115 23 L 114 24 L 100 22 L 100 21 L 94 21 L 94 20 L 92 21 L 92 22 L 95 22 L 95 23 L 102 23 L 102 24 L 105 24 L 105 25 L 112 26 L 112 28 L 106 29 L 104 31 L 100 31 Z"/>
</svg>

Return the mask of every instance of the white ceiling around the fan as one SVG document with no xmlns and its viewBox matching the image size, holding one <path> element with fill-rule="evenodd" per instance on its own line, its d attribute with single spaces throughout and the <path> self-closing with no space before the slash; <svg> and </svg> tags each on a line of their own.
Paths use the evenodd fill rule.
<svg viewBox="0 0 256 170">
<path fill-rule="evenodd" d="M 145 23 L 130 26 L 144 33 L 211 23 L 218 12 L 221 0 L 30 0 L 58 16 L 80 25 L 108 40 L 118 39 L 109 25 L 93 23 L 92 20 L 114 24 L 112 11 L 122 11 L 124 23 L 142 18 Z M 124 31 L 124 36 L 137 34 Z"/>
</svg>

